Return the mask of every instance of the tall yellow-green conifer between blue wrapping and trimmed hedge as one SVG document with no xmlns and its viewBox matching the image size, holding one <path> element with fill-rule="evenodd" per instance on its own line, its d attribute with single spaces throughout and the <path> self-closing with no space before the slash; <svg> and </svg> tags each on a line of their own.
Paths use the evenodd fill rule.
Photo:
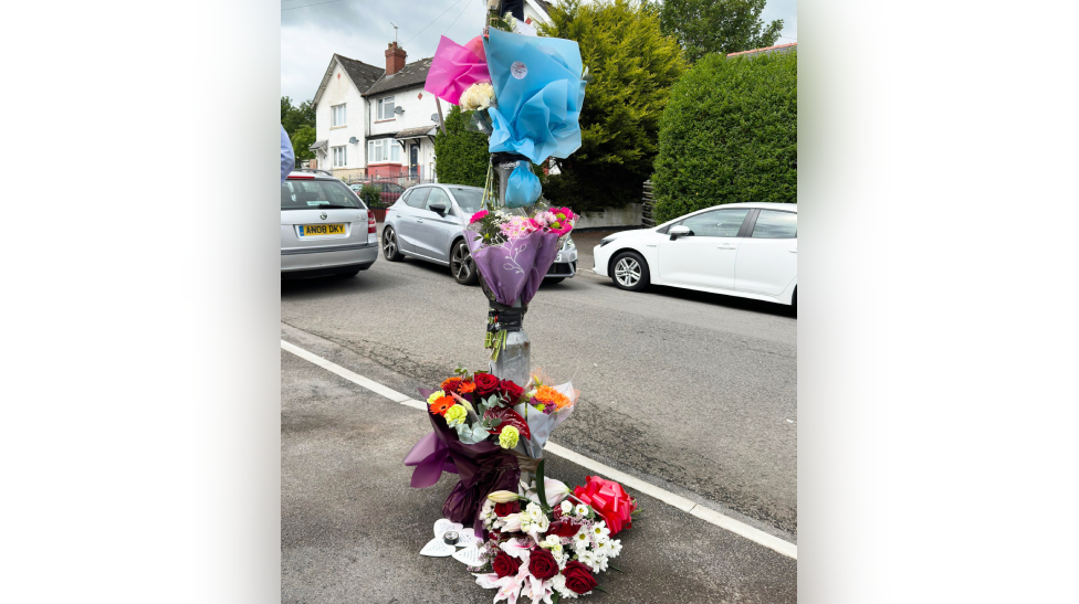
<svg viewBox="0 0 1079 604">
<path fill-rule="evenodd" d="M 640 201 L 670 88 L 687 68 L 682 51 L 648 3 L 564 0 L 549 14 L 541 34 L 576 41 L 593 80 L 580 112 L 580 149 L 557 160 L 562 174 L 545 179 L 544 198 L 578 212 Z"/>
</svg>

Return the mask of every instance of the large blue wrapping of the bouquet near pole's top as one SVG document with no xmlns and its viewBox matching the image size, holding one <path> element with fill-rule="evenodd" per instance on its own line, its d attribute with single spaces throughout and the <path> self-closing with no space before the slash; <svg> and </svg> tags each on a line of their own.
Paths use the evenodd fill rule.
<svg viewBox="0 0 1079 604">
<path fill-rule="evenodd" d="M 577 43 L 492 29 L 484 51 L 499 103 L 488 109 L 494 129 L 488 149 L 533 163 L 579 149 L 585 82 Z"/>
</svg>

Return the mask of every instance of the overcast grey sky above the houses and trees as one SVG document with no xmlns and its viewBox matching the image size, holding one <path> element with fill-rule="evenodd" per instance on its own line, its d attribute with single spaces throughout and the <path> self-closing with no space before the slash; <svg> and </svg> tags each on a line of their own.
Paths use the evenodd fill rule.
<svg viewBox="0 0 1079 604">
<path fill-rule="evenodd" d="M 441 35 L 464 43 L 479 35 L 485 7 L 485 0 L 283 0 L 281 94 L 295 105 L 313 98 L 334 53 L 385 67 L 391 22 L 409 63 L 434 54 Z M 777 44 L 797 41 L 797 0 L 769 0 L 761 18 L 783 19 Z"/>
</svg>

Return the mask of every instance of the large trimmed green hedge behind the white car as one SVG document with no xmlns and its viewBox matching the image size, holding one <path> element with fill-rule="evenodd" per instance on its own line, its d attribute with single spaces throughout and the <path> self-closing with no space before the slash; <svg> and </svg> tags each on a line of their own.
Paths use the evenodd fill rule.
<svg viewBox="0 0 1079 604">
<path fill-rule="evenodd" d="M 663 112 L 652 181 L 657 222 L 722 203 L 797 203 L 797 53 L 712 54 L 690 70 Z"/>
</svg>

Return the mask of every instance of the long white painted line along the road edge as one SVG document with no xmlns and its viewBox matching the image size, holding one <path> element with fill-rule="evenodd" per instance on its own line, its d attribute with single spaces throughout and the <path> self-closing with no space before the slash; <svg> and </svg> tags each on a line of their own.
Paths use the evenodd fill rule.
<svg viewBox="0 0 1079 604">
<path fill-rule="evenodd" d="M 307 352 L 306 350 L 300 348 L 298 346 L 281 340 L 281 348 L 282 350 L 292 352 L 296 357 L 300 357 L 305 361 L 310 361 L 325 369 L 326 371 L 329 371 L 331 373 L 341 375 L 342 378 L 359 385 L 360 388 L 366 388 L 367 390 L 374 392 L 375 394 L 378 394 L 379 396 L 389 399 L 395 403 L 400 403 L 402 405 L 410 406 L 412 409 L 427 411 L 427 404 L 423 403 L 422 401 L 417 401 L 416 399 L 401 394 L 400 392 L 397 392 L 394 389 L 386 388 L 385 385 L 374 380 L 364 378 L 363 375 L 356 372 L 349 371 L 341 367 L 339 364 L 327 361 L 326 359 L 323 359 L 322 357 L 314 354 L 312 352 Z M 782 553 L 787 558 L 793 558 L 795 560 L 798 559 L 798 547 L 795 545 L 794 543 L 790 543 L 789 541 L 784 541 L 783 539 L 779 539 L 778 537 L 775 537 L 773 534 L 768 534 L 762 531 L 761 529 L 755 529 L 746 524 L 745 522 L 735 520 L 734 518 L 731 518 L 730 516 L 725 516 L 711 508 L 701 507 L 694 504 L 693 501 L 690 501 L 689 499 L 682 497 L 681 495 L 675 495 L 664 488 L 660 488 L 657 487 L 656 485 L 646 483 L 640 478 L 630 476 L 625 471 L 615 469 L 606 464 L 601 464 L 590 457 L 586 457 L 579 453 L 570 451 L 552 441 L 547 441 L 547 446 L 545 447 L 545 451 L 547 453 L 553 453 L 558 457 L 562 457 L 563 459 L 573 462 L 578 466 L 590 469 L 596 474 L 601 474 L 609 480 L 621 483 L 622 486 L 625 487 L 629 487 L 631 489 L 638 490 L 640 492 L 643 492 L 645 495 L 648 495 L 649 497 L 659 499 L 660 501 L 663 501 L 669 506 L 673 506 L 682 511 L 692 513 L 693 516 L 700 518 L 701 520 L 704 520 L 705 522 L 715 524 L 721 529 L 729 530 L 740 537 L 753 541 L 754 543 L 764 545 L 769 550 Z"/>
</svg>

